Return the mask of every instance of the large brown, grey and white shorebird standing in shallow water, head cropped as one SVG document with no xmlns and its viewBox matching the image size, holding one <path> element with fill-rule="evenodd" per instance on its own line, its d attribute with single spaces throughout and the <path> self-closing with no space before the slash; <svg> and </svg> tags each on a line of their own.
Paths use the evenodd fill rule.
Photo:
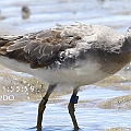
<svg viewBox="0 0 131 131">
<path fill-rule="evenodd" d="M 74 131 L 78 92 L 82 85 L 110 76 L 131 61 L 131 27 L 123 36 L 100 25 L 74 23 L 20 36 L 0 37 L 0 63 L 48 84 L 38 106 L 37 131 L 50 94 L 72 87 L 68 105 Z"/>
</svg>

